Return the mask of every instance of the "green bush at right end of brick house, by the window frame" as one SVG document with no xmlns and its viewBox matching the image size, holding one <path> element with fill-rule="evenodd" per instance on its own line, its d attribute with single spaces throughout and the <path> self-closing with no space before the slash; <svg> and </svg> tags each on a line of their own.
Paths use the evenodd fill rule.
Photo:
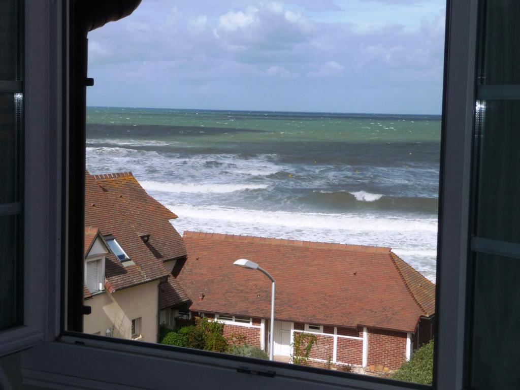
<svg viewBox="0 0 520 390">
<path fill-rule="evenodd" d="M 433 340 L 417 349 L 412 358 L 402 363 L 392 375 L 398 381 L 432 384 L 433 379 Z"/>
</svg>

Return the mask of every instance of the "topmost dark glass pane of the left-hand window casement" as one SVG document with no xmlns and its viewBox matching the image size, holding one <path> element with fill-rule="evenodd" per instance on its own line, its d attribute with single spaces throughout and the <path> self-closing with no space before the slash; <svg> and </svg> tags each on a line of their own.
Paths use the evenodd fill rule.
<svg viewBox="0 0 520 390">
<path fill-rule="evenodd" d="M 18 73 L 18 2 L 0 2 L 0 80 L 17 80 Z"/>
</svg>

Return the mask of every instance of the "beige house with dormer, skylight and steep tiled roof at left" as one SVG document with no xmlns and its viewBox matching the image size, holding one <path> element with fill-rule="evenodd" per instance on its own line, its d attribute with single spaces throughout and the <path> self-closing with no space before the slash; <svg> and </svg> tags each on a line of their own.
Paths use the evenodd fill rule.
<svg viewBox="0 0 520 390">
<path fill-rule="evenodd" d="M 186 257 L 177 218 L 132 173 L 85 176 L 84 332 L 157 342 L 189 298 L 171 271 Z"/>
</svg>

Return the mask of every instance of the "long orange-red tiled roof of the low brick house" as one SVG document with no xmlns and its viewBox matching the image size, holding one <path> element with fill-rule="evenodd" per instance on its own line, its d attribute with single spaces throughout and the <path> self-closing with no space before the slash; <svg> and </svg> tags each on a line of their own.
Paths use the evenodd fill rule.
<svg viewBox="0 0 520 390">
<path fill-rule="evenodd" d="M 390 248 L 190 231 L 184 241 L 177 280 L 193 311 L 268 318 L 270 281 L 232 266 L 247 258 L 275 278 L 280 320 L 413 332 L 433 314 L 435 285 Z"/>
</svg>

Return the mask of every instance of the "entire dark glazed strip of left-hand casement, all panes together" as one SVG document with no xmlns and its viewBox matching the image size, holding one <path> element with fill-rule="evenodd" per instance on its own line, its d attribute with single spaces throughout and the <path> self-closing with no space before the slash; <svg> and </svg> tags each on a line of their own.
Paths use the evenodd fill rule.
<svg viewBox="0 0 520 390">
<path fill-rule="evenodd" d="M 0 6 L 0 330 L 23 321 L 23 2 Z"/>
</svg>

